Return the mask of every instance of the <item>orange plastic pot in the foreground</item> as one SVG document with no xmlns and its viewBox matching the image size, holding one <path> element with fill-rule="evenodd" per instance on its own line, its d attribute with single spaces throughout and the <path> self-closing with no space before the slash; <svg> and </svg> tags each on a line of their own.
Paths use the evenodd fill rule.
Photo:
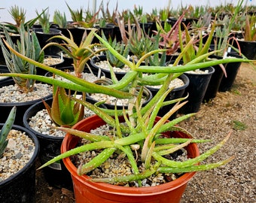
<svg viewBox="0 0 256 203">
<path fill-rule="evenodd" d="M 159 120 L 159 118 L 157 118 Z M 73 129 L 79 129 L 84 132 L 90 132 L 90 129 L 96 129 L 104 125 L 105 122 L 98 116 L 88 117 L 81 120 L 73 126 Z M 183 132 L 167 132 L 167 136 L 176 138 L 189 138 Z M 80 138 L 67 134 L 62 142 L 61 152 L 71 150 L 76 147 Z M 192 158 L 199 156 L 197 144 L 189 144 L 186 148 L 187 156 Z M 108 183 L 94 183 L 90 181 L 87 175 L 79 176 L 77 168 L 73 165 L 71 159 L 63 159 L 66 168 L 72 174 L 72 181 L 75 192 L 75 202 L 180 202 L 181 196 L 187 186 L 187 182 L 194 177 L 195 172 L 185 173 L 172 182 L 159 186 L 151 187 L 126 187 L 114 186 Z"/>
</svg>

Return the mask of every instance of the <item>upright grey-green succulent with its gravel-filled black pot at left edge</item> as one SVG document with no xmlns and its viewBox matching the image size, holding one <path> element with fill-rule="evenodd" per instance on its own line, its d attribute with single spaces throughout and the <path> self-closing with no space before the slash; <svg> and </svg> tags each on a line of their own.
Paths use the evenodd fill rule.
<svg viewBox="0 0 256 203">
<path fill-rule="evenodd" d="M 30 59 L 39 63 L 44 60 L 44 52 L 41 52 L 41 47 L 35 32 L 30 32 L 28 29 L 29 27 L 25 27 L 23 24 L 20 26 L 18 29 L 20 40 L 17 40 L 15 43 L 12 41 L 11 36 L 8 35 L 7 29 L 4 29 L 5 38 L 0 39 L 2 52 L 5 56 L 5 63 L 11 73 L 36 74 L 37 67 L 11 53 L 8 47 L 5 46 L 5 41 L 14 50 L 17 50 Z M 20 120 L 21 115 L 24 114 L 30 105 L 38 102 L 41 98 L 51 96 L 51 86 L 46 83 L 36 83 L 35 80 L 21 77 L 13 77 L 13 80 L 5 81 L 5 83 L 2 81 L 1 86 L 2 101 L 0 103 L 2 105 L 2 114 L 8 114 L 15 105 L 17 107 L 15 124 L 19 124 L 20 126 L 23 125 L 22 120 Z M 0 120 L 2 123 L 4 122 L 4 118 Z"/>
</svg>

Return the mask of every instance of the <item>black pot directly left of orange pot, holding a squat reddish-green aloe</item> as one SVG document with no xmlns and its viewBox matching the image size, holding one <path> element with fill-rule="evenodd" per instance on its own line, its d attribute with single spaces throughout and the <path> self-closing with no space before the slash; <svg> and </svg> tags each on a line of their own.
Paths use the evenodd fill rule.
<svg viewBox="0 0 256 203">
<path fill-rule="evenodd" d="M 51 105 L 53 98 L 47 98 L 44 100 L 47 104 Z M 23 125 L 26 129 L 33 132 L 38 138 L 40 144 L 39 159 L 41 165 L 45 162 L 53 159 L 53 157 L 60 154 L 60 146 L 62 144 L 64 137 L 54 137 L 50 135 L 44 135 L 40 132 L 35 131 L 29 126 L 29 120 L 31 117 L 35 116 L 38 111 L 45 109 L 43 102 L 37 102 L 32 105 L 23 116 Z M 69 171 L 66 170 L 65 165 L 62 161 L 55 162 L 42 169 L 44 172 L 44 177 L 51 186 L 65 187 L 67 189 L 72 189 L 72 179 Z"/>
</svg>

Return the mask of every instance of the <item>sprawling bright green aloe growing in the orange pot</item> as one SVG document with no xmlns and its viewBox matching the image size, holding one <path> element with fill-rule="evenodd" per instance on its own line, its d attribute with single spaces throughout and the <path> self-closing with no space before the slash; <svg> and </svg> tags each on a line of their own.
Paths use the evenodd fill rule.
<svg viewBox="0 0 256 203">
<path fill-rule="evenodd" d="M 82 138 L 86 138 L 87 140 L 90 141 L 90 144 L 84 144 L 81 147 L 76 147 L 73 150 L 70 150 L 66 153 L 56 156 L 55 158 L 47 162 L 45 165 L 42 165 L 41 168 L 47 165 L 50 165 L 51 163 L 56 162 L 59 159 L 72 156 L 76 153 L 81 153 L 82 151 L 95 150 L 95 149 L 102 150 L 102 152 L 99 153 L 98 156 L 96 156 L 90 162 L 87 162 L 85 165 L 82 165 L 80 168 L 78 168 L 78 174 L 84 174 L 84 173 L 86 174 L 87 172 L 96 168 L 98 165 L 105 162 L 105 160 L 108 159 L 108 157 L 110 157 L 114 152 L 118 153 L 121 151 L 129 159 L 130 164 L 132 165 L 133 174 L 128 177 L 114 177 L 111 180 L 107 178 L 107 179 L 94 179 L 92 181 L 119 182 L 123 180 L 125 181 L 136 180 L 138 181 L 139 185 L 141 185 L 142 179 L 157 172 L 163 172 L 163 173 L 177 172 L 178 173 L 178 172 L 187 172 L 187 171 L 209 170 L 211 168 L 224 165 L 227 162 L 229 162 L 231 159 L 233 159 L 233 157 L 231 157 L 230 159 L 217 162 L 217 163 L 197 165 L 197 163 L 202 162 L 204 159 L 211 156 L 212 153 L 215 153 L 216 150 L 222 147 L 230 135 L 228 135 L 227 138 L 224 139 L 224 141 L 221 141 L 220 144 L 217 144 L 215 147 L 212 147 L 212 149 L 206 151 L 206 153 L 203 153 L 202 155 L 194 159 L 189 159 L 184 162 L 175 162 L 175 161 L 171 161 L 164 158 L 166 153 L 169 153 L 169 151 L 173 150 L 173 149 L 170 149 L 170 144 L 177 142 L 177 140 L 175 140 L 174 138 L 170 138 L 170 139 L 161 138 L 159 135 L 166 131 L 186 132 L 184 129 L 181 129 L 180 127 L 176 126 L 176 124 L 194 115 L 194 114 L 187 114 L 166 123 L 166 120 L 168 120 L 169 117 L 172 114 L 174 114 L 175 111 L 177 111 L 179 108 L 185 105 L 186 102 L 181 102 L 184 98 L 178 99 L 178 101 L 181 103 L 178 103 L 177 105 L 175 105 L 157 123 L 154 124 L 154 122 L 157 117 L 157 112 L 163 105 L 166 104 L 166 102 L 163 102 L 163 101 L 166 95 L 169 93 L 169 91 L 171 91 L 171 89 L 169 90 L 167 89 L 169 86 L 169 82 L 172 80 L 173 77 L 183 73 L 184 71 L 192 71 L 197 68 L 205 68 L 211 65 L 218 65 L 218 64 L 227 63 L 227 62 L 236 62 L 236 61 L 249 62 L 250 60 L 218 59 L 214 61 L 201 62 L 200 59 L 193 59 L 191 62 L 185 65 L 178 65 L 179 59 L 177 59 L 172 67 L 169 67 L 169 66 L 153 66 L 152 67 L 149 65 L 142 65 L 142 62 L 149 56 L 152 56 L 154 53 L 159 53 L 159 52 L 162 52 L 163 50 L 152 50 L 151 52 L 146 53 L 144 56 L 142 56 L 142 58 L 139 59 L 138 62 L 130 62 L 129 59 L 126 59 L 125 57 L 120 55 L 120 53 L 114 50 L 114 48 L 111 47 L 110 44 L 108 44 L 108 41 L 105 41 L 96 33 L 94 33 L 94 35 L 96 36 L 96 38 L 99 39 L 99 41 L 102 44 L 104 44 L 106 49 L 108 49 L 112 54 L 114 54 L 115 57 L 117 57 L 117 59 L 119 59 L 121 62 L 125 63 L 126 65 L 128 65 L 131 69 L 131 71 L 126 73 L 126 75 L 121 80 L 114 81 L 112 85 L 108 85 L 108 86 L 96 85 L 93 83 L 89 83 L 85 80 L 81 80 L 80 78 L 72 76 L 63 71 L 59 71 L 59 70 L 56 70 L 55 68 L 48 67 L 47 65 L 42 65 L 38 62 L 33 61 L 32 59 L 29 59 L 23 56 L 17 51 L 11 49 L 11 47 L 8 46 L 8 44 L 6 44 L 7 47 L 10 48 L 12 52 L 14 52 L 14 54 L 21 57 L 22 59 L 25 59 L 26 61 L 31 62 L 34 65 L 38 65 L 38 67 L 44 68 L 44 70 L 51 71 L 54 74 L 58 74 L 59 76 L 65 77 L 69 81 L 52 80 L 52 78 L 48 78 L 44 76 L 27 75 L 27 74 L 1 74 L 1 75 L 33 78 L 33 79 L 41 80 L 43 82 L 54 84 L 56 86 L 62 86 L 67 89 L 73 89 L 73 90 L 85 91 L 85 92 L 103 92 L 107 95 L 114 95 L 118 98 L 130 98 L 130 105 L 128 106 L 128 109 L 124 111 L 117 111 L 117 110 L 105 110 L 102 108 L 98 108 L 95 105 L 92 105 L 86 101 L 82 101 L 78 98 L 72 97 L 72 99 L 74 99 L 75 102 L 79 102 L 81 105 L 84 105 L 85 107 L 90 108 L 97 115 L 99 115 L 99 117 L 101 117 L 102 120 L 105 120 L 105 122 L 108 123 L 108 125 L 112 126 L 113 129 L 115 130 L 114 136 L 108 137 L 105 135 L 92 135 L 90 133 L 79 132 L 79 131 L 74 131 L 73 129 L 60 127 L 58 129 L 63 130 L 65 132 L 70 132 L 73 135 L 77 135 Z M 184 47 L 184 50 L 181 51 L 180 57 L 182 57 L 184 53 L 187 52 L 188 49 L 189 49 L 189 46 Z M 206 53 L 206 56 L 209 56 L 210 54 L 212 53 Z M 201 57 L 206 57 L 206 56 L 203 55 Z M 154 75 L 145 75 L 142 73 L 154 73 Z M 141 98 L 142 98 L 143 86 L 145 86 L 145 84 L 148 84 L 148 83 L 151 83 L 151 84 L 158 83 L 160 80 L 162 81 L 163 86 L 160 88 L 159 92 L 157 92 L 154 98 L 152 98 L 147 105 L 142 107 L 140 103 L 142 101 Z M 141 90 L 139 92 L 136 91 L 138 85 L 141 86 Z M 130 86 L 129 92 L 126 92 L 127 86 Z M 118 120 L 118 116 L 124 117 L 126 125 L 123 125 L 123 123 L 121 123 L 120 120 Z M 184 147 L 190 142 L 191 140 L 189 139 L 178 140 L 178 143 L 181 143 L 181 144 L 176 146 L 175 149 Z M 192 142 L 205 142 L 205 140 L 192 140 Z M 139 153 L 140 160 L 145 163 L 145 171 L 143 171 L 142 173 L 139 172 L 139 169 L 137 167 L 136 156 L 133 156 L 132 146 L 134 146 L 134 144 L 139 146 L 138 153 Z M 163 148 L 160 149 L 159 144 L 163 144 L 164 149 Z M 155 162 L 154 167 L 150 167 L 150 160 L 154 160 Z"/>
</svg>

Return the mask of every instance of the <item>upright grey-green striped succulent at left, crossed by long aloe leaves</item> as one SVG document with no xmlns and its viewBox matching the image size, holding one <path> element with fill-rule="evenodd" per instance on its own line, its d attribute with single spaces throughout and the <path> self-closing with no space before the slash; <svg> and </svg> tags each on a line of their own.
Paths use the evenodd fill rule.
<svg viewBox="0 0 256 203">
<path fill-rule="evenodd" d="M 30 32 L 29 27 L 22 24 L 18 29 L 20 34 L 20 41 L 14 43 L 11 40 L 10 35 L 8 35 L 7 29 L 4 29 L 5 38 L 8 44 L 19 53 L 24 56 L 33 59 L 37 62 L 44 61 L 44 52 L 41 52 L 41 47 L 38 42 L 38 38 L 35 32 Z M 11 53 L 4 44 L 5 39 L 0 38 L 0 44 L 2 47 L 2 52 L 5 56 L 5 63 L 11 73 L 23 73 L 23 74 L 36 74 L 36 66 L 23 59 L 17 57 L 14 53 Z M 20 90 L 23 92 L 31 92 L 35 80 L 28 80 L 21 77 L 14 77 L 14 82 L 19 86 Z"/>
</svg>

